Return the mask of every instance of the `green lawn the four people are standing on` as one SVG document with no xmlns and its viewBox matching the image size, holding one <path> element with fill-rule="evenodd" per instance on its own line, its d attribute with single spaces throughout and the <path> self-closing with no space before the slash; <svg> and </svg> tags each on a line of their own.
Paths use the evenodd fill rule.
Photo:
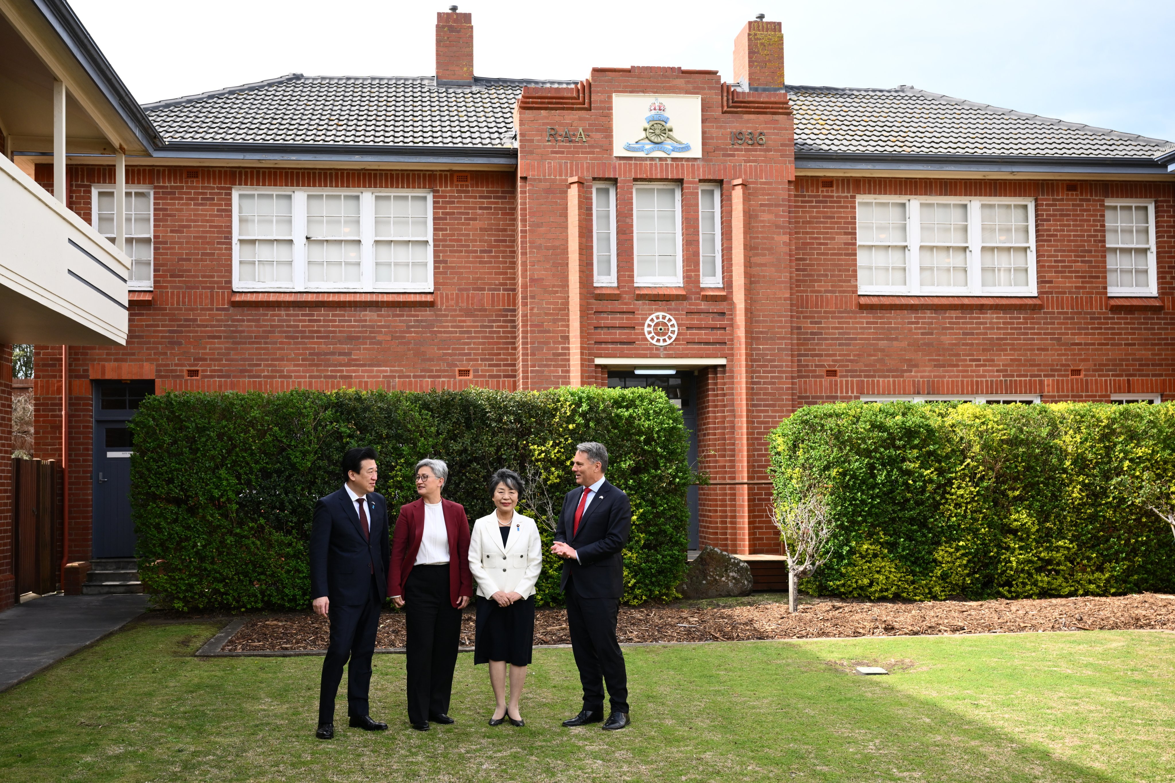
<svg viewBox="0 0 1175 783">
<path fill-rule="evenodd" d="M 22 781 L 1175 781 L 1175 634 L 1090 632 L 629 647 L 633 724 L 563 729 L 570 650 L 536 650 L 526 727 L 485 724 L 463 654 L 454 727 L 314 738 L 320 657 L 195 659 L 219 627 L 140 623 L 0 694 Z M 830 662 L 900 661 L 886 677 Z M 344 686 L 345 687 L 345 686 Z"/>
</svg>

